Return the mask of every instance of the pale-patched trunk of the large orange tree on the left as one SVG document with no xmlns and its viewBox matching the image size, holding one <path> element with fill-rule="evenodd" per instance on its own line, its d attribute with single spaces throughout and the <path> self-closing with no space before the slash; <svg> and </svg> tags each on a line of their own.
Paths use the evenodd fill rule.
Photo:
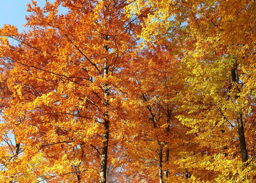
<svg viewBox="0 0 256 183">
<path fill-rule="evenodd" d="M 108 74 L 108 63 L 105 63 L 104 66 L 104 77 Z M 104 86 L 104 95 L 105 95 L 105 106 L 108 106 L 107 96 L 110 95 L 110 90 L 108 84 Z M 104 134 L 103 134 L 103 144 L 102 144 L 102 153 L 100 155 L 100 183 L 107 182 L 107 159 L 108 159 L 108 137 L 109 137 L 109 121 L 108 121 L 108 112 L 104 113 Z"/>
</svg>

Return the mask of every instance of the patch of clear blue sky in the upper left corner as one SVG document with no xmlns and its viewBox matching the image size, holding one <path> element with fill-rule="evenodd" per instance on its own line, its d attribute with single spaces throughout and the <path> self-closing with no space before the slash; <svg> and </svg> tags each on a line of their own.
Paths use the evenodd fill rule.
<svg viewBox="0 0 256 183">
<path fill-rule="evenodd" d="M 26 24 L 25 16 L 29 15 L 26 12 L 26 5 L 31 0 L 0 0 L 0 28 L 4 24 L 17 26 L 18 32 L 23 30 L 23 24 Z M 45 0 L 38 0 L 37 4 L 41 7 L 45 4 Z"/>
</svg>

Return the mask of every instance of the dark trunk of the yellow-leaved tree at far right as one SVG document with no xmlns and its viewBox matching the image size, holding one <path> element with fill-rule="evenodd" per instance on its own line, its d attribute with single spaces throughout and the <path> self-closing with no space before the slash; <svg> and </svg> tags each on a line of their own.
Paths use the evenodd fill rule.
<svg viewBox="0 0 256 183">
<path fill-rule="evenodd" d="M 238 84 L 239 77 L 238 77 L 238 70 L 237 70 L 236 63 L 234 68 L 231 70 L 231 75 L 232 75 L 232 81 Z M 239 89 L 238 89 L 238 93 L 239 93 Z M 235 103 L 239 105 L 238 98 L 239 98 L 239 95 L 235 95 Z M 237 113 L 236 122 L 238 125 L 238 134 L 239 134 L 239 143 L 240 143 L 242 162 L 246 162 L 248 160 L 248 157 L 247 157 L 247 148 L 246 148 L 246 138 L 244 137 L 244 124 L 243 124 L 242 116 L 243 116 L 242 112 L 239 111 Z"/>
</svg>

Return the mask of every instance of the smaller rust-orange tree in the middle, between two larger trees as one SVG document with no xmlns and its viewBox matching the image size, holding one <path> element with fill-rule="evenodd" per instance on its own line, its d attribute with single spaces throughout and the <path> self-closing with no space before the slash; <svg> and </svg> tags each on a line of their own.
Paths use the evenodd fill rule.
<svg viewBox="0 0 256 183">
<path fill-rule="evenodd" d="M 176 118 L 183 113 L 176 111 L 181 105 L 176 95 L 184 89 L 184 78 L 179 75 L 182 65 L 176 48 L 169 46 L 141 50 L 123 74 L 132 82 L 122 88 L 126 94 L 122 106 L 129 113 L 126 131 L 132 131 L 124 163 L 137 173 L 137 182 L 183 182 L 186 165 L 178 166 L 183 159 L 179 153 L 196 146 L 186 134 L 189 127 Z"/>
</svg>

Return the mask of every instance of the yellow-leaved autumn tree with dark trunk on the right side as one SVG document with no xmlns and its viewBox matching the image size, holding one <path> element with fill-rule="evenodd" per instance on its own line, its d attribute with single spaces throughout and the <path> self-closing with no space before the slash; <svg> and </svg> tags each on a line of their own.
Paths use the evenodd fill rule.
<svg viewBox="0 0 256 183">
<path fill-rule="evenodd" d="M 202 148 L 186 152 L 191 181 L 254 179 L 255 2 L 130 2 L 129 12 L 149 12 L 140 35 L 143 45 L 173 35 L 186 43 L 181 48 L 186 87 L 179 94 L 184 102 L 179 110 L 187 113 L 178 118 L 192 127 L 190 134 L 197 134 Z"/>
</svg>

